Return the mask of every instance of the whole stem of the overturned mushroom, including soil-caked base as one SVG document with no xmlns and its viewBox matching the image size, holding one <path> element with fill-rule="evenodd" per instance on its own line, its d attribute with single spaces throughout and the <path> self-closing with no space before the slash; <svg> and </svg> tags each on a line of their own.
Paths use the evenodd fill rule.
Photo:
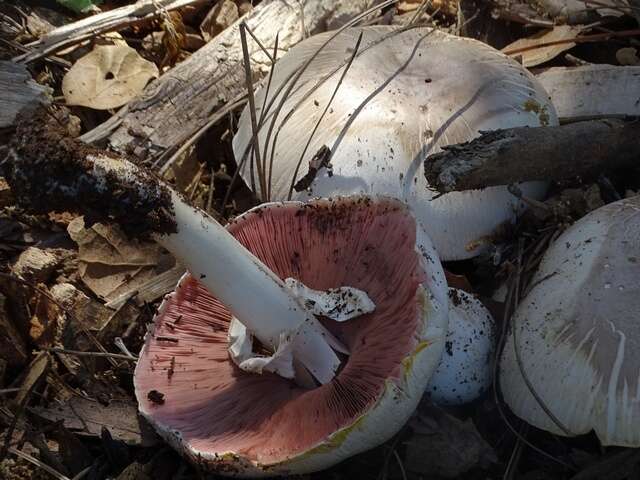
<svg viewBox="0 0 640 480">
<path fill-rule="evenodd" d="M 80 211 L 133 236 L 152 234 L 265 346 L 276 350 L 284 335 L 297 365 L 323 384 L 334 377 L 333 349 L 347 353 L 340 342 L 222 225 L 152 173 L 70 138 L 45 111 L 18 122 L 0 173 L 33 210 Z"/>
</svg>

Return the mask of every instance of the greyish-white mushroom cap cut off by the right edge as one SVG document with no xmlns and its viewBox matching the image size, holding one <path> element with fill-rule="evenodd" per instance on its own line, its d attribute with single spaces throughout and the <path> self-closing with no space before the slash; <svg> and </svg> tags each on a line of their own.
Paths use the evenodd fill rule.
<svg viewBox="0 0 640 480">
<path fill-rule="evenodd" d="M 558 237 L 511 327 L 500 386 L 516 415 L 640 447 L 640 197 L 600 207 Z"/>
</svg>

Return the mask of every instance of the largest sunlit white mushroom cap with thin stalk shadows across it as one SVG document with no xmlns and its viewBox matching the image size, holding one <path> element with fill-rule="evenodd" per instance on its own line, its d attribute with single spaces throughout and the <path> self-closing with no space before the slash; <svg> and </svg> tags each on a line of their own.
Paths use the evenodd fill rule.
<svg viewBox="0 0 640 480">
<path fill-rule="evenodd" d="M 333 35 L 292 48 L 256 93 L 261 169 L 250 111 L 243 112 L 233 141 L 243 178 L 263 199 L 399 198 L 428 229 L 441 259 L 477 255 L 514 219 L 519 200 L 506 187 L 436 198 L 422 174 L 424 159 L 480 131 L 556 125 L 547 93 L 517 62 L 473 39 L 426 27 Z M 521 188 L 540 198 L 546 185 Z"/>
</svg>

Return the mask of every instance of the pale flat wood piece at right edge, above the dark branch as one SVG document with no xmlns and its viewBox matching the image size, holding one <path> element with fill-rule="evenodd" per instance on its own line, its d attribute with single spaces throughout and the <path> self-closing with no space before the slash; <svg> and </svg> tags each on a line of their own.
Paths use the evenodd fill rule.
<svg viewBox="0 0 640 480">
<path fill-rule="evenodd" d="M 640 67 L 556 67 L 538 75 L 560 120 L 640 116 Z"/>
</svg>

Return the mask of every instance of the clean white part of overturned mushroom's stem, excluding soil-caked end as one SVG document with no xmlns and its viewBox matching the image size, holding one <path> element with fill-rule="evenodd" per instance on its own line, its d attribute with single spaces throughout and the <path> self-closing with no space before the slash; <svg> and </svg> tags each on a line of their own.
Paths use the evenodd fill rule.
<svg viewBox="0 0 640 480">
<path fill-rule="evenodd" d="M 343 352 L 344 347 L 285 283 L 222 225 L 186 204 L 175 192 L 171 201 L 177 233 L 156 234 L 156 240 L 179 258 L 260 342 L 275 349 L 281 333 L 295 335 L 294 358 L 320 383 L 329 382 L 340 365 L 331 347 Z"/>
</svg>

